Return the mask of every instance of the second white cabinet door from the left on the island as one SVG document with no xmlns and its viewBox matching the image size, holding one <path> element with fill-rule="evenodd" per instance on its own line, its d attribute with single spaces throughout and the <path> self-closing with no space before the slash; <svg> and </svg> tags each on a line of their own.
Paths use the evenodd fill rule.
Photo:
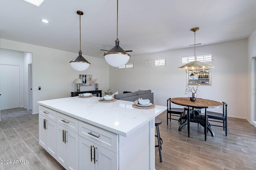
<svg viewBox="0 0 256 170">
<path fill-rule="evenodd" d="M 47 130 L 47 138 L 48 138 L 48 146 L 47 151 L 56 158 L 56 122 L 46 119 L 46 130 Z"/>
</svg>

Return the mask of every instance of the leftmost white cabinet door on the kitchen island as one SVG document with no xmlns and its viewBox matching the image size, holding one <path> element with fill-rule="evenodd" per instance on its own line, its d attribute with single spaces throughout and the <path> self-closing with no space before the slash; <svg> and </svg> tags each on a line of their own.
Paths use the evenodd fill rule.
<svg viewBox="0 0 256 170">
<path fill-rule="evenodd" d="M 48 137 L 47 137 L 47 129 L 45 129 L 45 120 L 46 117 L 39 114 L 39 144 L 47 150 L 48 145 Z"/>
</svg>

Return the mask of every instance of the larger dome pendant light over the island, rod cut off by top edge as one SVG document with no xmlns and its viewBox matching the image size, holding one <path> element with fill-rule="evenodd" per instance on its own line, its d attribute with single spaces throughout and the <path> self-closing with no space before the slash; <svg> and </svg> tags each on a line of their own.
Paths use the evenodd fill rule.
<svg viewBox="0 0 256 170">
<path fill-rule="evenodd" d="M 107 61 L 108 64 L 110 64 L 113 67 L 120 67 L 125 65 L 129 59 L 130 55 L 127 52 L 129 51 L 124 51 L 120 46 L 119 46 L 119 39 L 118 39 L 118 0 L 117 0 L 117 17 L 116 17 L 116 41 L 115 41 L 115 47 L 113 47 L 111 50 L 103 50 L 103 51 L 108 51 L 107 53 L 104 53 L 105 60 Z"/>
</svg>

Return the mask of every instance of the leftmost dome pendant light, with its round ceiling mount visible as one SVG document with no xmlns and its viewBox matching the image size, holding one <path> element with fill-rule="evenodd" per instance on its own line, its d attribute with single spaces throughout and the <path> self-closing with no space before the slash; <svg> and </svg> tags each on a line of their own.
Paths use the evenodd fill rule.
<svg viewBox="0 0 256 170">
<path fill-rule="evenodd" d="M 82 56 L 82 51 L 81 51 L 81 16 L 84 15 L 84 12 L 76 11 L 76 13 L 79 15 L 80 50 L 78 52 L 78 56 L 76 58 L 74 58 L 72 61 L 69 61 L 69 63 L 72 66 L 72 68 L 74 68 L 75 70 L 84 71 L 91 64 Z"/>
</svg>

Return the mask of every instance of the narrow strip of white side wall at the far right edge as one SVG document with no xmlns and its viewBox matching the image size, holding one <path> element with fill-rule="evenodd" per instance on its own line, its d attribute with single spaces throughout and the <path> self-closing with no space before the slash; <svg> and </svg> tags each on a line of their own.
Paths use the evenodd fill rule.
<svg viewBox="0 0 256 170">
<path fill-rule="evenodd" d="M 256 57 L 256 30 L 248 37 L 248 114 L 250 123 L 255 120 L 255 57 Z"/>
</svg>

